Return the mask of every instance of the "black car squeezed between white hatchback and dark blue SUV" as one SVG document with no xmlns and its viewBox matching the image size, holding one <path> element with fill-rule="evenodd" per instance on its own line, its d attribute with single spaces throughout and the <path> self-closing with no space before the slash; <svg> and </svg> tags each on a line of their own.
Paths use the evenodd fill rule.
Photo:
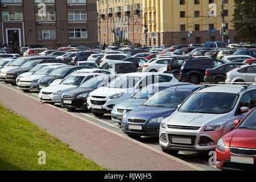
<svg viewBox="0 0 256 182">
<path fill-rule="evenodd" d="M 174 77 L 179 80 L 180 68 L 185 60 L 189 60 L 191 57 L 174 57 L 171 63 L 167 64 L 167 73 L 171 73 Z"/>
</svg>

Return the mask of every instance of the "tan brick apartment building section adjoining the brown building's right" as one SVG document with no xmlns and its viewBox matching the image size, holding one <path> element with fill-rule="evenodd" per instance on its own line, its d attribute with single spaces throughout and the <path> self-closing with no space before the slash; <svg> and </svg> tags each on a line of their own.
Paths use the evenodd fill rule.
<svg viewBox="0 0 256 182">
<path fill-rule="evenodd" d="M 97 13 L 100 44 L 109 45 L 120 39 L 142 43 L 142 0 L 97 0 Z"/>
</svg>

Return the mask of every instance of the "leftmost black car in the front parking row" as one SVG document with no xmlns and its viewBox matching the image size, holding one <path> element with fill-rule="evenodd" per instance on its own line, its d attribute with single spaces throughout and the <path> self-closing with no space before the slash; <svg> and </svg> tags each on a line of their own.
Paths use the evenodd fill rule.
<svg viewBox="0 0 256 182">
<path fill-rule="evenodd" d="M 11 82 L 16 84 L 16 78 L 25 72 L 30 71 L 30 69 L 34 68 L 38 64 L 43 64 L 43 63 L 63 63 L 63 61 L 59 59 L 54 59 L 54 58 L 41 58 L 41 59 L 35 59 L 35 60 L 29 60 L 23 65 L 21 65 L 19 68 L 16 69 L 11 69 L 6 73 L 6 81 Z"/>
</svg>

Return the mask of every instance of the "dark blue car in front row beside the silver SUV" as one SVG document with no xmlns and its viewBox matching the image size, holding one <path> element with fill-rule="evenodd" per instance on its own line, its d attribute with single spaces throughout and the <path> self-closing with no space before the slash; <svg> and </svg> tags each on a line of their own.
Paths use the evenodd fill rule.
<svg viewBox="0 0 256 182">
<path fill-rule="evenodd" d="M 160 121 L 170 116 L 185 98 L 203 85 L 182 85 L 164 89 L 123 116 L 121 129 L 129 137 L 159 137 Z"/>
</svg>

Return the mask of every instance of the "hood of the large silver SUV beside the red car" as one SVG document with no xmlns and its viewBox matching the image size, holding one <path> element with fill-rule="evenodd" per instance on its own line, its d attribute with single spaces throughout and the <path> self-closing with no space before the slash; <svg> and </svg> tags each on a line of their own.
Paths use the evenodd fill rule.
<svg viewBox="0 0 256 182">
<path fill-rule="evenodd" d="M 168 118 L 167 125 L 203 127 L 212 123 L 225 121 L 220 119 L 225 114 L 202 114 L 202 113 L 181 113 L 175 111 Z"/>
</svg>

